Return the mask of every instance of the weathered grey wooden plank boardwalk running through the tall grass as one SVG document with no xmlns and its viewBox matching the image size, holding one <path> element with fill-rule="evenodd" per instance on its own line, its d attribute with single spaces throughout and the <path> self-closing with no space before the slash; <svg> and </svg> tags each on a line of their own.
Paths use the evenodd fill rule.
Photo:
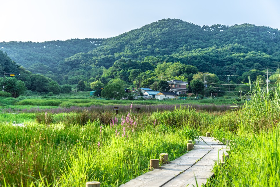
<svg viewBox="0 0 280 187">
<path fill-rule="evenodd" d="M 215 161 L 226 154 L 226 146 L 213 137 L 200 137 L 185 155 L 121 185 L 127 186 L 201 186 L 213 175 Z"/>
</svg>

